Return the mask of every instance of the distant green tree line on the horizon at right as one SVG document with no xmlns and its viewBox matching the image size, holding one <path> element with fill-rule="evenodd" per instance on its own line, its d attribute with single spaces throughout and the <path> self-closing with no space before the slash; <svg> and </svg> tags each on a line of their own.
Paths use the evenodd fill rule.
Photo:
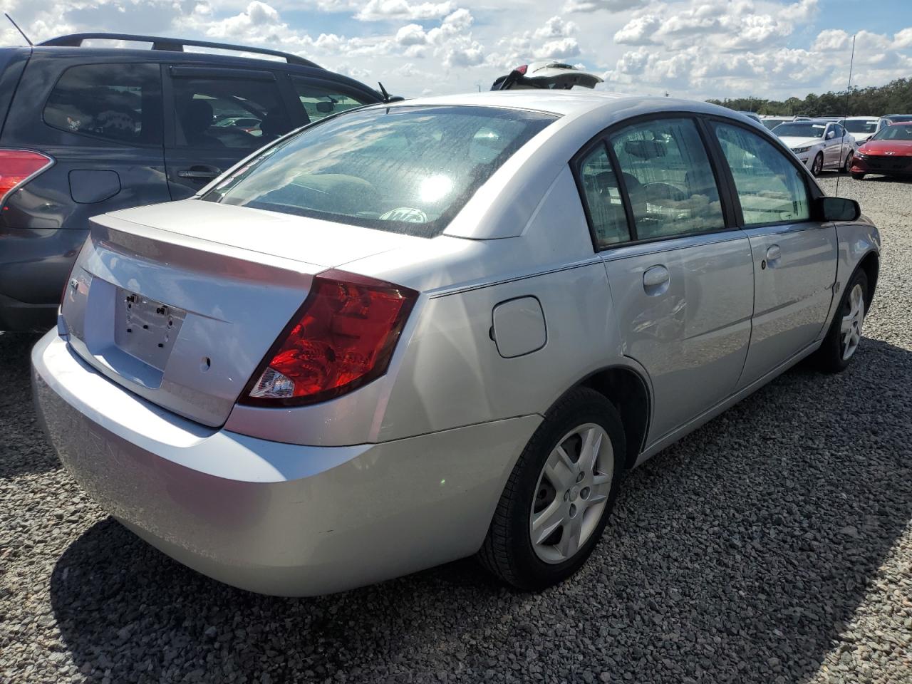
<svg viewBox="0 0 912 684">
<path fill-rule="evenodd" d="M 886 86 L 853 87 L 850 92 L 810 93 L 805 98 L 788 98 L 784 101 L 763 98 L 709 99 L 737 111 L 754 111 L 758 114 L 778 116 L 872 116 L 912 113 L 912 78 L 897 78 Z"/>
</svg>

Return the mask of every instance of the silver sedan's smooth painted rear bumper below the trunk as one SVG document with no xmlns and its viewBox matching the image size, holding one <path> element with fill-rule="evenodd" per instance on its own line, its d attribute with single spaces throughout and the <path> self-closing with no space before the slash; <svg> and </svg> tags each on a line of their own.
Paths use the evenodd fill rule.
<svg viewBox="0 0 912 684">
<path fill-rule="evenodd" d="M 264 594 L 311 596 L 481 546 L 541 420 L 308 447 L 204 428 L 119 388 L 56 331 L 32 352 L 36 407 L 67 470 L 184 565 Z"/>
</svg>

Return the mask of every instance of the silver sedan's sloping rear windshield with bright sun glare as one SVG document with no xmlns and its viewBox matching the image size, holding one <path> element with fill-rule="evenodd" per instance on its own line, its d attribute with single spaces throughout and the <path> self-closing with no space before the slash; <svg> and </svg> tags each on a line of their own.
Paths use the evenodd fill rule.
<svg viewBox="0 0 912 684">
<path fill-rule="evenodd" d="M 203 199 L 433 237 L 555 119 L 492 107 L 350 111 L 268 148 Z"/>
</svg>

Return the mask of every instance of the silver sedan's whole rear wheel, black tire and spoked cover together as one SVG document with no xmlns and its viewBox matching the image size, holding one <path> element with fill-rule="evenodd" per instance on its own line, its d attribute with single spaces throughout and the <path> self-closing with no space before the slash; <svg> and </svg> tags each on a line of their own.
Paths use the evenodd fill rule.
<svg viewBox="0 0 912 684">
<path fill-rule="evenodd" d="M 605 529 L 627 442 L 617 409 L 577 388 L 548 411 L 497 504 L 479 559 L 523 590 L 573 575 Z"/>
</svg>

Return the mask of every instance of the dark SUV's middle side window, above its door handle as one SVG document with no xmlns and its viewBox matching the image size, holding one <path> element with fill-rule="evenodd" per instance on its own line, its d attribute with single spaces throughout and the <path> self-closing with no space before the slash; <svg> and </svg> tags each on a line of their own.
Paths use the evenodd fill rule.
<svg viewBox="0 0 912 684">
<path fill-rule="evenodd" d="M 225 70 L 212 78 L 199 69 L 172 69 L 178 147 L 254 150 L 291 130 L 275 76 Z"/>
</svg>

